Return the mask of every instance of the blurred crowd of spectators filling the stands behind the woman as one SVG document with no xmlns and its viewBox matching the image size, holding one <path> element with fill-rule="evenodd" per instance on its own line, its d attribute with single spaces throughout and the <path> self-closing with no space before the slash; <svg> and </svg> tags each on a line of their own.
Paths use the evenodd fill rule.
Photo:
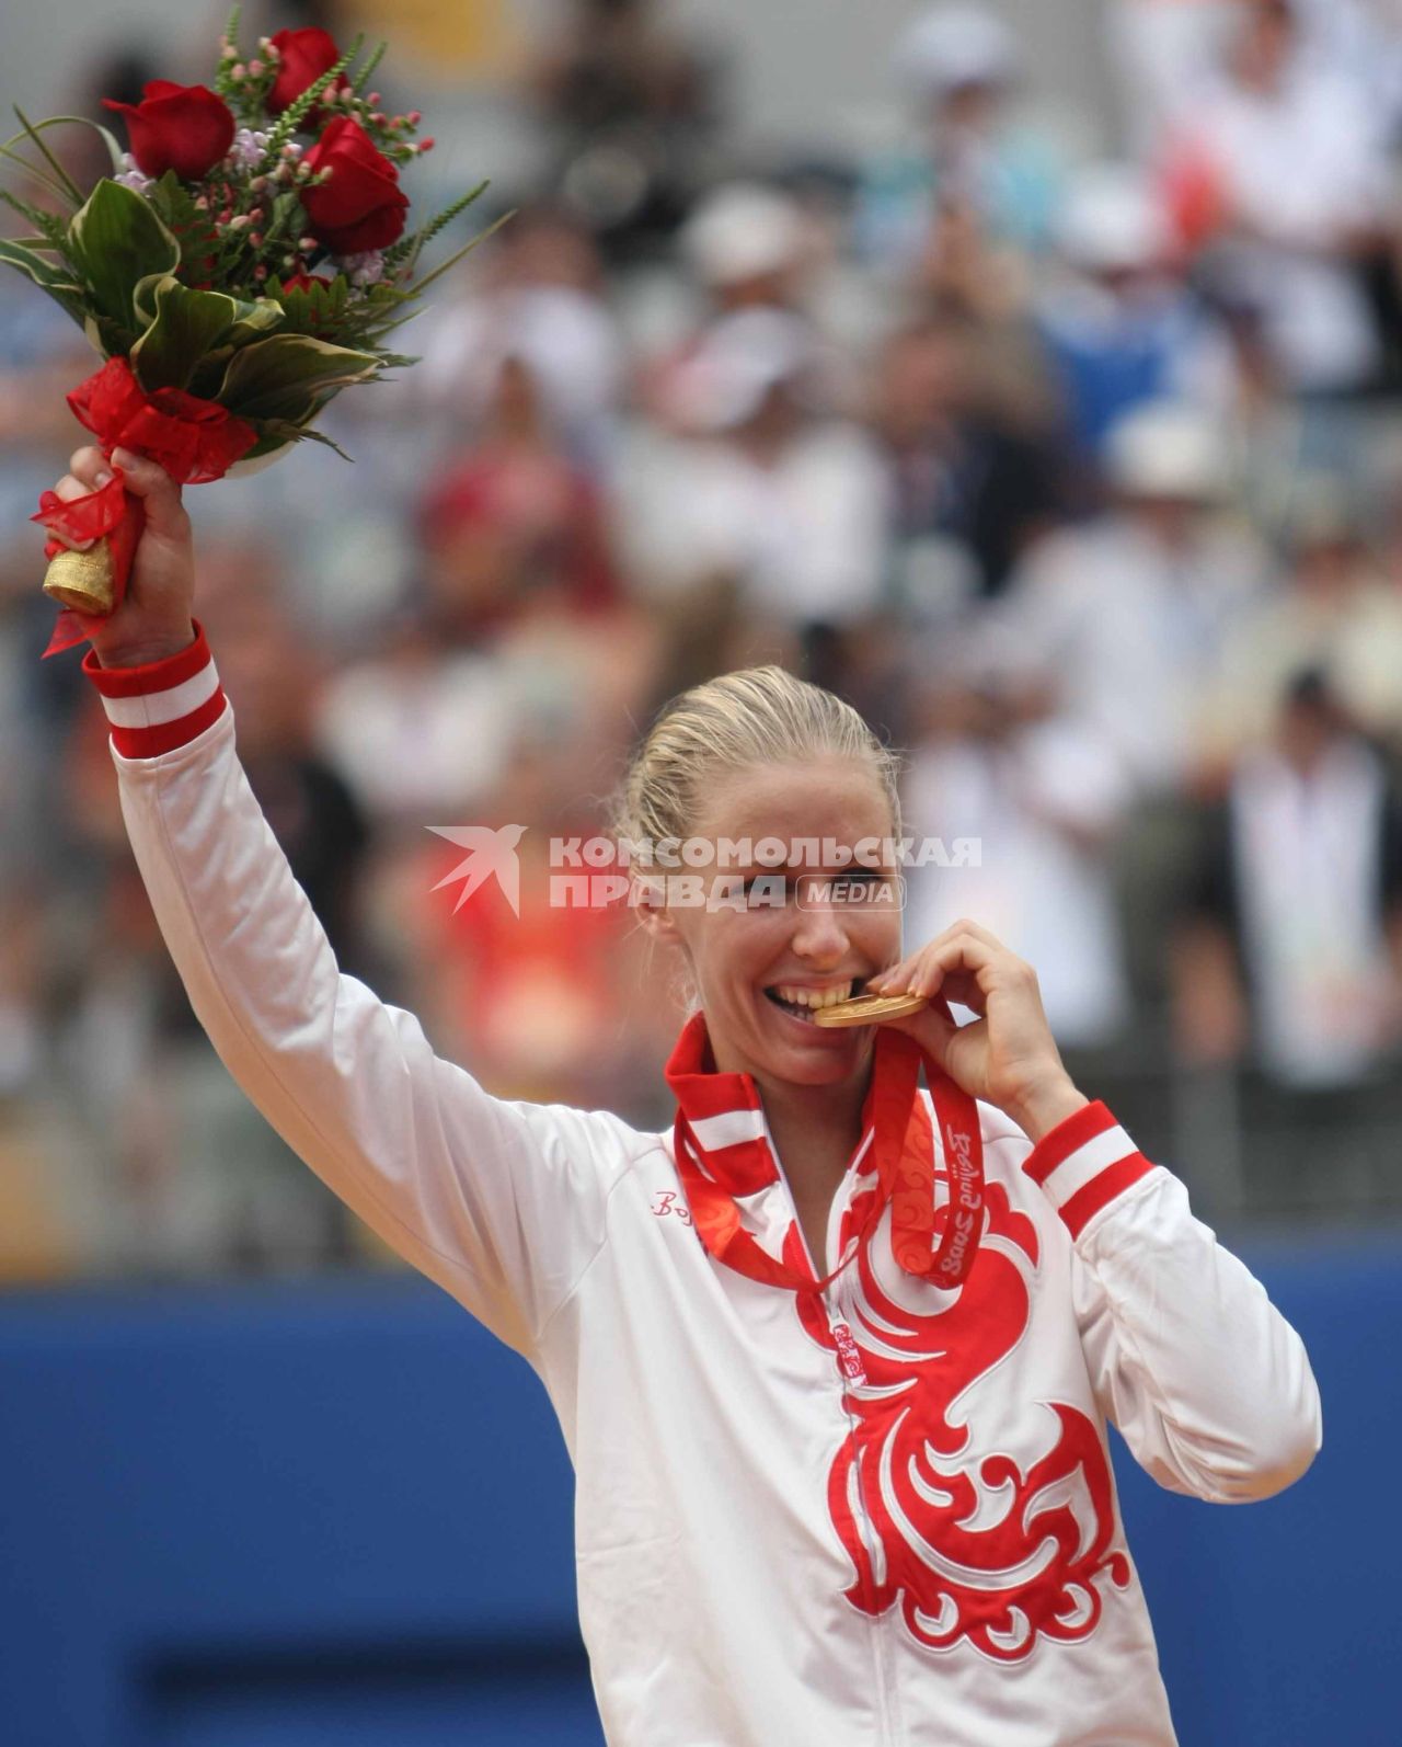
<svg viewBox="0 0 1402 1747">
<path fill-rule="evenodd" d="M 822 155 L 737 152 L 726 44 L 651 0 L 566 10 L 515 217 L 326 419 L 356 465 L 190 494 L 342 966 L 503 1095 L 663 1123 L 665 970 L 550 905 L 548 840 L 662 701 L 782 660 L 906 749 L 906 830 L 981 846 L 908 872 L 908 938 L 1028 957 L 1205 1207 L 1395 1212 L 1402 5 L 1107 0 L 1110 154 L 993 10 L 873 42 L 889 140 Z M 77 659 L 38 662 L 26 515 L 89 369 L 0 280 L 0 1277 L 374 1261 L 210 1053 Z M 520 919 L 440 887 L 464 823 L 529 828 Z"/>
</svg>

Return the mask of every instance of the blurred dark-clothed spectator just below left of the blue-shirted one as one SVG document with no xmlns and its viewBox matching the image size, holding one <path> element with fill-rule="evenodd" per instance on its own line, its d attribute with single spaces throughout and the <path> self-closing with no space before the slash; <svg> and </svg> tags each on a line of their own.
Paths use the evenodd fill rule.
<svg viewBox="0 0 1402 1747">
<path fill-rule="evenodd" d="M 978 594 L 1000 592 L 1056 517 L 1060 466 L 1049 442 L 1002 416 L 978 330 L 946 314 L 896 332 L 876 360 L 871 425 L 892 475 L 903 604 L 920 610 L 932 550 L 955 570 L 966 554 Z"/>
</svg>

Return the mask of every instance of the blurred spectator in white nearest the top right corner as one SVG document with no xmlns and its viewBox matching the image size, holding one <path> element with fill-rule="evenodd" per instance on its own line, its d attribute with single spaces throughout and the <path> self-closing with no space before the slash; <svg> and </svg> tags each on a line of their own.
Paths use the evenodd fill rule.
<svg viewBox="0 0 1402 1747">
<path fill-rule="evenodd" d="M 1378 105 L 1309 52 L 1299 0 L 1238 10 L 1226 65 L 1179 124 L 1179 218 L 1210 245 L 1213 281 L 1261 311 L 1294 390 L 1355 390 L 1381 362 L 1364 283 L 1392 229 Z"/>
</svg>

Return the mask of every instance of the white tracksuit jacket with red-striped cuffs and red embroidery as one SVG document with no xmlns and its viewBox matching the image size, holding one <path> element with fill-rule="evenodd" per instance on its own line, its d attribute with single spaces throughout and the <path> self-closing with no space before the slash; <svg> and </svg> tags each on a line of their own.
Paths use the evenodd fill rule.
<svg viewBox="0 0 1402 1747">
<path fill-rule="evenodd" d="M 988 1223 L 962 1293 L 903 1274 L 878 1225 L 801 1314 L 705 1253 L 670 1132 L 494 1099 L 337 971 L 203 634 L 86 666 L 230 1073 L 550 1392 L 611 1747 L 1173 1742 L 1105 1420 L 1163 1485 L 1233 1502 L 1297 1478 L 1320 1417 L 1299 1338 L 1168 1170 L 1130 1167 L 1109 1116 L 1030 1151 L 979 1106 Z"/>
</svg>

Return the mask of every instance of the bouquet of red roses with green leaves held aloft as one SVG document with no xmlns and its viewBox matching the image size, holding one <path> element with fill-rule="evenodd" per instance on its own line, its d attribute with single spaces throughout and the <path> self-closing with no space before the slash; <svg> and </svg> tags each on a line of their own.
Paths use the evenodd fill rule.
<svg viewBox="0 0 1402 1747">
<path fill-rule="evenodd" d="M 330 442 L 318 412 L 414 362 L 388 348 L 405 306 L 480 241 L 419 276 L 424 245 L 485 183 L 409 229 L 400 169 L 433 142 L 417 138 L 417 110 L 388 115 L 367 91 L 382 44 L 361 61 L 360 40 L 342 54 L 325 30 L 279 30 L 244 56 L 237 24 L 236 9 L 213 89 L 157 79 L 140 103 L 107 103 L 129 150 L 98 129 L 112 173 L 94 189 L 79 189 L 44 138 L 79 117 L 31 124 L 16 110 L 23 131 L 0 147 L 52 203 L 0 189 L 31 232 L 0 239 L 0 262 L 107 360 L 68 397 L 73 412 L 108 456 L 122 445 L 183 484 Z M 47 547 L 45 589 L 77 615 L 115 610 L 140 538 L 140 503 L 113 475 L 73 503 L 45 493 L 35 517 L 96 538 L 87 552 Z M 84 634 L 66 617 L 51 650 Z"/>
</svg>

